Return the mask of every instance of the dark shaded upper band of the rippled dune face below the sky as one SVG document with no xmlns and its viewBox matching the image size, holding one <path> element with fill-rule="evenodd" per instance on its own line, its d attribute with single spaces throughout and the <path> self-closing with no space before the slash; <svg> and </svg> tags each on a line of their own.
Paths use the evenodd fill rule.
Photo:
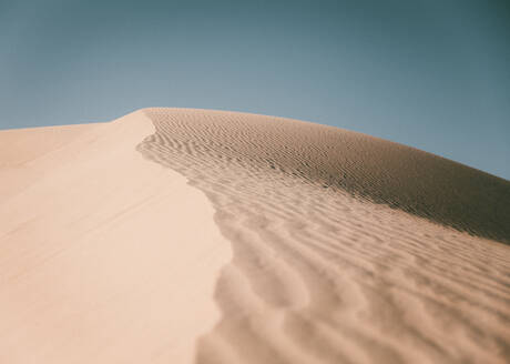
<svg viewBox="0 0 510 364">
<path fill-rule="evenodd" d="M 473 235 L 510 243 L 510 182 L 398 143 L 309 122 L 235 112 L 147 109 L 212 155 L 341 189 Z"/>
</svg>

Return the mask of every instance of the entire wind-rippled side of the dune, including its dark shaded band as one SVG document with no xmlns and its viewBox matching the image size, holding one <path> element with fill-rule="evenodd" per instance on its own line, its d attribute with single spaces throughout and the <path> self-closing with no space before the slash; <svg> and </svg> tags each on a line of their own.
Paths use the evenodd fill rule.
<svg viewBox="0 0 510 364">
<path fill-rule="evenodd" d="M 144 113 L 137 150 L 207 195 L 234 252 L 197 363 L 510 357 L 510 182 L 336 128 Z"/>
</svg>

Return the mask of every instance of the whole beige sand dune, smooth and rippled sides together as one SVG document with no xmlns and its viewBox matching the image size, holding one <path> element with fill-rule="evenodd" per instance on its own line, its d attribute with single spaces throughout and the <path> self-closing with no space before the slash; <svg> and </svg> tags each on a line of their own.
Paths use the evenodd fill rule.
<svg viewBox="0 0 510 364">
<path fill-rule="evenodd" d="M 283 118 L 0 131 L 0 363 L 510 363 L 510 182 Z"/>
</svg>

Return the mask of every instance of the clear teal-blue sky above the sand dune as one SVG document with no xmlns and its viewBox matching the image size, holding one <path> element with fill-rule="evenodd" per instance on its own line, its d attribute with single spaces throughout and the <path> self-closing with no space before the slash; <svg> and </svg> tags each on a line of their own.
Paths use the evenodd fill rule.
<svg viewBox="0 0 510 364">
<path fill-rule="evenodd" d="M 0 129 L 272 114 L 510 179 L 510 1 L 0 0 Z"/>
</svg>

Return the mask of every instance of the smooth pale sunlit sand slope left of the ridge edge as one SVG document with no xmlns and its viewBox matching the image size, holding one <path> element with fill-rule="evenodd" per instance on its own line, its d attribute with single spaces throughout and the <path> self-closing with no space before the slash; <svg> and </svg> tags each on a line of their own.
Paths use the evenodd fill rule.
<svg viewBox="0 0 510 364">
<path fill-rule="evenodd" d="M 228 243 L 141 113 L 0 132 L 0 363 L 188 363 Z"/>
</svg>

